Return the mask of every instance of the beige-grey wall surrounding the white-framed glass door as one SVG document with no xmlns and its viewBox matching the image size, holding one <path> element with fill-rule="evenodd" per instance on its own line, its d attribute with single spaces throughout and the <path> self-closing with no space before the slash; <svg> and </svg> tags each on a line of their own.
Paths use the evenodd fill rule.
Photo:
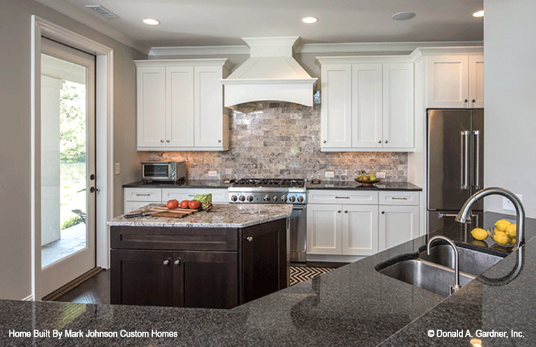
<svg viewBox="0 0 536 347">
<path fill-rule="evenodd" d="M 145 54 L 32 0 L 0 1 L 0 298 L 31 294 L 30 74 L 31 15 L 114 49 L 114 209 L 122 211 L 122 184 L 139 178 L 136 152 L 136 69 Z"/>
</svg>

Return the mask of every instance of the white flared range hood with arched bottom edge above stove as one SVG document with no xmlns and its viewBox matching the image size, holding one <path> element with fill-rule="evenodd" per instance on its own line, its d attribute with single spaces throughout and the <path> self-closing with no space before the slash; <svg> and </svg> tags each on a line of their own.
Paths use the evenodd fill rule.
<svg viewBox="0 0 536 347">
<path fill-rule="evenodd" d="M 250 58 L 221 80 L 225 107 L 269 100 L 312 106 L 317 78 L 311 78 L 292 57 L 299 38 L 243 37 L 250 46 Z"/>
</svg>

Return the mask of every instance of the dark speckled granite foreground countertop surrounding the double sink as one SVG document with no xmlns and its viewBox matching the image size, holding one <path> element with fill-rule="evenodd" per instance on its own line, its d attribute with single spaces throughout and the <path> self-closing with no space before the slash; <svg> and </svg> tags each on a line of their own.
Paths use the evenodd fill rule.
<svg viewBox="0 0 536 347">
<path fill-rule="evenodd" d="M 486 217 L 485 217 L 486 218 Z M 489 217 L 489 221 L 497 217 Z M 489 222 L 488 221 L 488 222 Z M 536 234 L 534 224 L 527 238 Z M 461 242 L 460 228 L 437 234 Z M 534 346 L 536 338 L 536 239 L 524 246 L 519 276 L 494 287 L 473 280 L 453 296 L 431 291 L 375 271 L 397 255 L 419 251 L 429 236 L 418 237 L 348 264 L 323 276 L 277 291 L 232 310 L 80 305 L 0 301 L 3 346 L 471 346 L 469 337 L 428 337 L 428 330 L 521 331 L 519 338 L 482 338 L 483 346 Z M 470 238 L 470 237 L 469 237 Z M 484 248 L 482 248 L 484 249 Z M 503 276 L 517 259 L 508 255 L 484 275 Z M 118 337 L 8 337 L 9 330 L 88 330 Z M 122 332 L 122 330 L 124 330 Z M 147 332 L 149 337 L 120 334 Z M 152 330 L 177 337 L 150 337 Z"/>
</svg>

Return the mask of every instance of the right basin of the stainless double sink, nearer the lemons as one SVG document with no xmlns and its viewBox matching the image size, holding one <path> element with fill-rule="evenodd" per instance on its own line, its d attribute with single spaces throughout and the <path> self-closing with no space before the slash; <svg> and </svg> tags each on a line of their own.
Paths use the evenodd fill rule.
<svg viewBox="0 0 536 347">
<path fill-rule="evenodd" d="M 494 266 L 497 262 L 503 260 L 503 257 L 474 251 L 469 248 L 457 247 L 460 256 L 460 271 L 478 276 Z M 440 244 L 430 249 L 430 255 L 423 251 L 419 254 L 423 260 L 428 260 L 436 264 L 454 267 L 454 251 L 448 244 Z"/>
</svg>

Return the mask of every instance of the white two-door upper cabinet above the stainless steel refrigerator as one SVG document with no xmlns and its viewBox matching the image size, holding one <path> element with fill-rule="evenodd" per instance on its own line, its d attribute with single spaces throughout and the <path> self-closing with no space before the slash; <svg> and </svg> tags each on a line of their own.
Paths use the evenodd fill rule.
<svg viewBox="0 0 536 347">
<path fill-rule="evenodd" d="M 484 107 L 483 56 L 428 56 L 428 108 Z"/>
</svg>

